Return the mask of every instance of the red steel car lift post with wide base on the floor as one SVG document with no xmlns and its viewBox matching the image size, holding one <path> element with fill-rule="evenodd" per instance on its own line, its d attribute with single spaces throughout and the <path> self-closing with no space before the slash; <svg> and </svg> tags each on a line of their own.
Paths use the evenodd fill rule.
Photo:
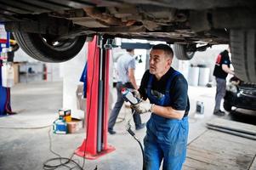
<svg viewBox="0 0 256 170">
<path fill-rule="evenodd" d="M 109 57 L 107 39 L 95 36 L 88 42 L 86 139 L 76 150 L 77 156 L 97 159 L 115 150 L 107 144 Z"/>
</svg>

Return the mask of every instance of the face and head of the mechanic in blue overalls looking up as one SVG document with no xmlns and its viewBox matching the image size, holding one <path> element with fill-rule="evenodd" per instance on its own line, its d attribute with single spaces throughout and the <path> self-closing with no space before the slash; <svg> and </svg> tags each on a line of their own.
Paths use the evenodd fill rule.
<svg viewBox="0 0 256 170">
<path fill-rule="evenodd" d="M 152 49 L 150 55 L 150 72 L 160 79 L 170 68 L 172 58 L 168 57 L 162 49 Z"/>
</svg>

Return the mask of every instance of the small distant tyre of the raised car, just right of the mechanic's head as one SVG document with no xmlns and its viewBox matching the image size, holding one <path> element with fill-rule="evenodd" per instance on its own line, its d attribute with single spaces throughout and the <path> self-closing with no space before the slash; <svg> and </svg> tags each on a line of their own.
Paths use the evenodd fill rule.
<svg viewBox="0 0 256 170">
<path fill-rule="evenodd" d="M 174 43 L 174 54 L 177 59 L 190 60 L 194 57 L 195 52 L 188 51 L 188 45 Z"/>
</svg>

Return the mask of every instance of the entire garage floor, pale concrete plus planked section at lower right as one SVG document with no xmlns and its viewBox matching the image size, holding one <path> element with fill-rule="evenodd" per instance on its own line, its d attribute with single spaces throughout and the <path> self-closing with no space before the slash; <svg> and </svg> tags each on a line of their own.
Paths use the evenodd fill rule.
<svg viewBox="0 0 256 170">
<path fill-rule="evenodd" d="M 56 157 L 50 152 L 50 144 L 52 150 L 65 157 L 71 156 L 82 144 L 85 137 L 83 131 L 65 135 L 49 132 L 62 105 L 62 82 L 18 84 L 11 89 L 11 93 L 12 107 L 18 114 L 0 118 L 1 170 L 40 170 L 44 161 Z M 184 169 L 256 169 L 255 140 L 205 127 L 205 122 L 214 117 L 214 88 L 190 87 L 189 94 L 190 134 Z M 203 118 L 194 113 L 197 100 L 204 102 Z M 129 110 L 123 107 L 115 127 L 117 134 L 109 135 L 109 144 L 116 150 L 94 161 L 85 160 L 84 169 L 94 170 L 96 166 L 102 170 L 141 169 L 139 144 L 125 131 L 128 116 Z M 149 114 L 142 115 L 144 122 L 148 118 Z M 145 129 L 136 131 L 136 134 L 142 140 Z M 82 165 L 81 157 L 74 156 L 73 160 Z"/>
</svg>

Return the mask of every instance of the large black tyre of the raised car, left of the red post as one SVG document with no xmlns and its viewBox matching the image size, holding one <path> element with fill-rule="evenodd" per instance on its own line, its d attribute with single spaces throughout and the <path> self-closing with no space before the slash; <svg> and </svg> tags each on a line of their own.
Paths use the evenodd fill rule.
<svg viewBox="0 0 256 170">
<path fill-rule="evenodd" d="M 43 62 L 59 63 L 75 57 L 86 40 L 84 36 L 51 42 L 40 34 L 14 31 L 14 38 L 26 54 Z"/>
</svg>

